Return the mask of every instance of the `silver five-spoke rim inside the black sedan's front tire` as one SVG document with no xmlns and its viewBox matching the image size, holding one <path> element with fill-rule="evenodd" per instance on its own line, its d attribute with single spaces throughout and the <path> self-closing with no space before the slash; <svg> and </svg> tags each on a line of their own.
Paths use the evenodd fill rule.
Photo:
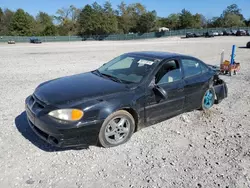
<svg viewBox="0 0 250 188">
<path fill-rule="evenodd" d="M 128 137 L 129 131 L 129 120 L 123 116 L 115 117 L 105 129 L 105 138 L 111 144 L 118 144 Z"/>
</svg>

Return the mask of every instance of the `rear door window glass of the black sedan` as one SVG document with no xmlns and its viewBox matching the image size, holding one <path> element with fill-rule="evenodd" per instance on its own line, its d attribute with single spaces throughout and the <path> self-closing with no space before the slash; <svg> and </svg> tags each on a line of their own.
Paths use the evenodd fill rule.
<svg viewBox="0 0 250 188">
<path fill-rule="evenodd" d="M 182 59 L 185 77 L 199 75 L 202 72 L 201 64 L 193 59 Z"/>
</svg>

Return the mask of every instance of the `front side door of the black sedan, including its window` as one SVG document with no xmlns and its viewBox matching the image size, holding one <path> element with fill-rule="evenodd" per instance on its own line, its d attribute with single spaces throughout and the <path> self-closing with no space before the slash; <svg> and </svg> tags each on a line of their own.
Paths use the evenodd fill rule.
<svg viewBox="0 0 250 188">
<path fill-rule="evenodd" d="M 160 87 L 166 92 L 164 99 L 153 89 Z M 167 119 L 182 111 L 184 105 L 184 82 L 180 63 L 168 60 L 156 71 L 151 87 L 146 89 L 145 115 L 148 125 Z"/>
</svg>

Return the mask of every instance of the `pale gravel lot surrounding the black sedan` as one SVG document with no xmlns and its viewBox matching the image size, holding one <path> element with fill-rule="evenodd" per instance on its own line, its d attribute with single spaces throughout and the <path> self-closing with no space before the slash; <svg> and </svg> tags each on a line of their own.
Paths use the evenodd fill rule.
<svg viewBox="0 0 250 188">
<path fill-rule="evenodd" d="M 0 187 L 250 187 L 250 37 L 0 44 Z M 54 150 L 28 127 L 24 100 L 46 80 L 90 71 L 128 51 L 160 50 L 219 64 L 237 45 L 229 96 L 135 133 L 121 146 Z"/>
</svg>

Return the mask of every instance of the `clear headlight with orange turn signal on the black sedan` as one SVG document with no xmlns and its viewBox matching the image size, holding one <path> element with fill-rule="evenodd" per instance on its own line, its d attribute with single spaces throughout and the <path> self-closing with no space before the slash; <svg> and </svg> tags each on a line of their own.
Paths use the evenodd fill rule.
<svg viewBox="0 0 250 188">
<path fill-rule="evenodd" d="M 83 117 L 83 111 L 78 109 L 61 109 L 61 110 L 54 110 L 49 113 L 50 116 L 66 120 L 66 121 L 77 121 Z"/>
</svg>

